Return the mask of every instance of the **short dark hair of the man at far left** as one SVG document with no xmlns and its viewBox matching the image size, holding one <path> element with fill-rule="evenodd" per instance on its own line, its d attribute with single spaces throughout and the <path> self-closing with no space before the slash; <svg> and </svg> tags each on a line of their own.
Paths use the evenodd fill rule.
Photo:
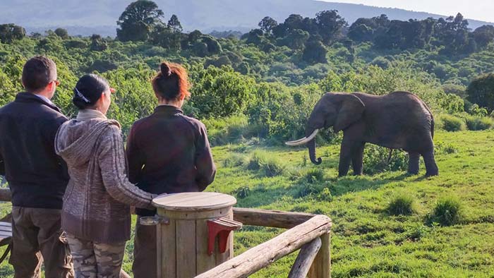
<svg viewBox="0 0 494 278">
<path fill-rule="evenodd" d="M 23 84 L 28 92 L 38 92 L 56 80 L 56 65 L 45 56 L 34 56 L 23 68 Z"/>
</svg>

